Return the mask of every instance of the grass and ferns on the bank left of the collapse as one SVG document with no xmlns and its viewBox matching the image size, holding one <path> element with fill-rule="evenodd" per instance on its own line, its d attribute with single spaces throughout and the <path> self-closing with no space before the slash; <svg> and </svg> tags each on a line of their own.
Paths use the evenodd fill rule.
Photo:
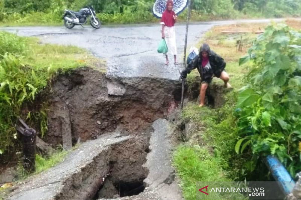
<svg viewBox="0 0 301 200">
<path fill-rule="evenodd" d="M 43 138 L 47 131 L 47 102 L 36 101 L 47 92 L 57 73 L 94 66 L 96 58 L 75 46 L 41 44 L 37 38 L 0 32 L 0 158 L 16 152 L 17 117 L 26 119 Z M 34 106 L 29 104 L 36 101 Z M 22 112 L 27 110 L 28 112 Z"/>
</svg>

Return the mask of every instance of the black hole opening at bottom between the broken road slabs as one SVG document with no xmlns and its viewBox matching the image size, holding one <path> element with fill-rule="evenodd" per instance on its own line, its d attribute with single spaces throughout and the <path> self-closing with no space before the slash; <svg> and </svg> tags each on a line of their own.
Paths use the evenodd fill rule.
<svg viewBox="0 0 301 200">
<path fill-rule="evenodd" d="M 120 182 L 117 185 L 117 190 L 119 191 L 120 197 L 138 195 L 139 193 L 143 192 L 144 188 L 143 181 L 132 183 Z"/>
</svg>

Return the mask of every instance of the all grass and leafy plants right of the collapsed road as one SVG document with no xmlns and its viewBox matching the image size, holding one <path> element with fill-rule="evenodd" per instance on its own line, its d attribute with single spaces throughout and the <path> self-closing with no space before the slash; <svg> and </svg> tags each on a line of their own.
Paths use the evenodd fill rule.
<svg viewBox="0 0 301 200">
<path fill-rule="evenodd" d="M 287 24 L 300 29 L 294 20 Z M 300 118 L 296 112 L 300 106 L 297 55 L 301 53 L 301 35 L 286 25 L 266 26 L 216 26 L 197 44 L 206 42 L 225 58 L 234 90 L 225 91 L 221 108 L 199 108 L 198 102 L 191 102 L 183 109 L 182 119 L 195 125 L 191 139 L 174 154 L 186 200 L 196 198 L 197 181 L 270 180 L 262 162 L 265 155 L 277 156 L 293 177 L 300 171 Z M 225 30 L 249 33 L 222 33 Z M 264 34 L 255 34 L 263 30 Z M 239 43 L 241 51 L 237 51 Z M 281 74 L 284 76 L 275 77 Z M 190 73 L 188 84 L 197 76 L 197 70 Z M 223 83 L 214 78 L 213 84 Z"/>
</svg>

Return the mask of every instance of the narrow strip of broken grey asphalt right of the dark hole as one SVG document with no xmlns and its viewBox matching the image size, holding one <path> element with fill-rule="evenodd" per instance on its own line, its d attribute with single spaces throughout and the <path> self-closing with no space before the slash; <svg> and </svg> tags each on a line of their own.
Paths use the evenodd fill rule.
<svg viewBox="0 0 301 200">
<path fill-rule="evenodd" d="M 175 180 L 175 169 L 171 166 L 171 134 L 169 123 L 166 119 L 158 119 L 153 124 L 154 133 L 150 139 L 151 152 L 147 154 L 149 174 L 144 180 L 149 187 L 157 190 L 162 200 L 182 200 L 181 189 Z"/>
</svg>

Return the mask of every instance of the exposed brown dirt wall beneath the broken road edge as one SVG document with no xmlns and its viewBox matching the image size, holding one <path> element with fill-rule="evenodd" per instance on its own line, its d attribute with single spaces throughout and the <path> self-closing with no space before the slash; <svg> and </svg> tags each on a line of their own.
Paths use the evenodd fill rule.
<svg viewBox="0 0 301 200">
<path fill-rule="evenodd" d="M 164 118 L 179 100 L 180 81 L 159 78 L 105 77 L 91 68 L 57 77 L 48 97 L 48 133 L 45 140 L 62 144 L 70 127 L 73 144 L 115 130 L 139 133 L 146 124 Z M 177 95 L 175 95 L 177 94 Z M 70 124 L 70 125 L 69 125 Z"/>
</svg>

